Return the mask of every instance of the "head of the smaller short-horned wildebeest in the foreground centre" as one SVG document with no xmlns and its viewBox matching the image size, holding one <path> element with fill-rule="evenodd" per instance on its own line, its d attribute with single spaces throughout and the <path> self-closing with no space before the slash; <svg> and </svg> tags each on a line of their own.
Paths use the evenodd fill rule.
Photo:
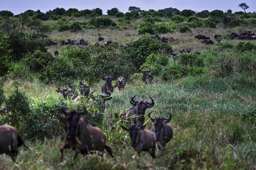
<svg viewBox="0 0 256 170">
<path fill-rule="evenodd" d="M 127 131 L 130 134 L 131 143 L 133 148 L 138 147 L 140 141 L 137 140 L 138 132 L 144 129 L 144 126 L 137 122 L 136 124 L 131 124 L 128 128 L 121 126 L 124 131 Z"/>
</svg>

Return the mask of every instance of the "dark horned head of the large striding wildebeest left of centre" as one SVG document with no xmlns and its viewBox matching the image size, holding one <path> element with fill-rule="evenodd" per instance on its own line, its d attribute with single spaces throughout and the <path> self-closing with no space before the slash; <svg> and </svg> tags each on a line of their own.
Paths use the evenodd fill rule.
<svg viewBox="0 0 256 170">
<path fill-rule="evenodd" d="M 67 140 L 76 140 L 76 129 L 77 124 L 80 118 L 87 115 L 86 107 L 84 106 L 84 110 L 65 110 L 66 103 L 62 105 L 61 109 L 59 110 L 59 115 L 62 118 L 66 118 L 68 121 L 68 132 L 66 134 Z"/>
</svg>

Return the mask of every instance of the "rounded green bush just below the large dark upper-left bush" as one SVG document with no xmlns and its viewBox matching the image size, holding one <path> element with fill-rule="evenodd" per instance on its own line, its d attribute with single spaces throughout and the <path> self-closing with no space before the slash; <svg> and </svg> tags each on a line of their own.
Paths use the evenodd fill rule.
<svg viewBox="0 0 256 170">
<path fill-rule="evenodd" d="M 24 60 L 32 70 L 40 71 L 47 65 L 51 64 L 54 57 L 50 52 L 36 51 L 34 53 L 27 54 Z"/>
</svg>

